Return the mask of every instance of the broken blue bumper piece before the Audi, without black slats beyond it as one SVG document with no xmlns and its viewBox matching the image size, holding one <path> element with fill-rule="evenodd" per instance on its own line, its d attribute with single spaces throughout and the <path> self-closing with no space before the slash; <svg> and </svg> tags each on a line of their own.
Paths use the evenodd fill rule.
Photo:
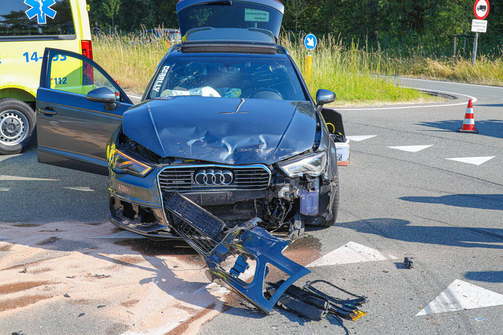
<svg viewBox="0 0 503 335">
<path fill-rule="evenodd" d="M 282 254 L 289 242 L 258 227 L 258 218 L 225 230 L 223 221 L 177 192 L 165 193 L 163 204 L 167 213 L 172 213 L 183 221 L 175 223 L 173 218 L 168 219 L 173 229 L 204 256 L 210 280 L 239 294 L 266 314 L 269 314 L 288 286 L 311 272 Z M 226 271 L 221 264 L 229 256 L 237 256 L 237 259 L 233 268 Z M 248 259 L 256 261 L 251 283 L 238 278 L 249 265 L 246 262 Z M 285 272 L 289 278 L 274 294 L 266 298 L 264 279 L 269 273 L 268 264 Z"/>
</svg>

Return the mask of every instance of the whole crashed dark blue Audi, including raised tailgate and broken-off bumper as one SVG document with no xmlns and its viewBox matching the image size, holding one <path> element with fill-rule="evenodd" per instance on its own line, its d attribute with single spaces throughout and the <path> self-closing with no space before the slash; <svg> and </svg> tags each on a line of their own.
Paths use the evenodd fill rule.
<svg viewBox="0 0 503 335">
<path fill-rule="evenodd" d="M 323 108 L 336 96 L 319 90 L 313 101 L 277 44 L 281 3 L 183 0 L 177 12 L 184 42 L 162 58 L 134 106 L 92 59 L 46 49 L 38 159 L 108 175 L 114 225 L 186 240 L 213 281 L 269 312 L 310 272 L 281 255 L 288 242 L 270 232 L 292 240 L 305 224 L 337 218 L 334 137 L 344 127 Z M 62 74 L 61 60 L 78 70 Z M 251 263 L 246 283 L 239 277 Z M 266 298 L 268 264 L 290 279 Z"/>
</svg>

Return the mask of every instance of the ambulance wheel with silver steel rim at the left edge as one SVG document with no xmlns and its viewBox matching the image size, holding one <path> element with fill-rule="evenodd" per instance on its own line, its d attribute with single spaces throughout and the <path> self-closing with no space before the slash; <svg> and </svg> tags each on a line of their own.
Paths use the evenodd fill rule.
<svg viewBox="0 0 503 335">
<path fill-rule="evenodd" d="M 35 112 L 26 102 L 0 99 L 0 155 L 26 150 L 36 137 L 35 123 Z"/>
</svg>

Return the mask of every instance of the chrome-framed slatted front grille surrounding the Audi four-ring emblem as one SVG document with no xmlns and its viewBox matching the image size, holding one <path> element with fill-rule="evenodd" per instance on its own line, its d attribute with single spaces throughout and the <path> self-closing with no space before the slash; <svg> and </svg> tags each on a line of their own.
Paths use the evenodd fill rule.
<svg viewBox="0 0 503 335">
<path fill-rule="evenodd" d="M 220 170 L 231 172 L 233 180 L 228 185 L 198 185 L 194 174 L 200 171 Z M 166 166 L 157 176 L 160 191 L 254 191 L 267 189 L 271 171 L 261 164 L 254 165 L 176 165 Z"/>
</svg>

